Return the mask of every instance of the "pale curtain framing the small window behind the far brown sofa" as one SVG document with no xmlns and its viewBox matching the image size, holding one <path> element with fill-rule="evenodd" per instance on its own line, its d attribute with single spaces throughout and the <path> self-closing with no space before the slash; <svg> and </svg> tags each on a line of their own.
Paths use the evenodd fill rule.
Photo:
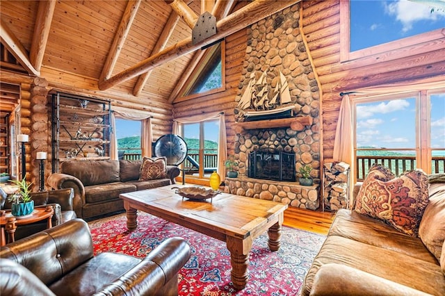
<svg viewBox="0 0 445 296">
<path fill-rule="evenodd" d="M 111 133 L 111 159 L 118 159 L 118 139 L 116 138 L 115 130 L 116 123 L 115 117 L 122 118 L 124 120 L 140 120 L 141 125 L 141 135 L 140 135 L 140 146 L 142 149 L 142 156 L 150 157 L 152 156 L 152 141 L 153 141 L 153 131 L 152 131 L 152 115 L 143 110 L 131 110 L 128 108 L 123 108 L 119 106 L 113 106 L 113 112 L 111 113 L 111 126 L 113 133 Z"/>
</svg>

